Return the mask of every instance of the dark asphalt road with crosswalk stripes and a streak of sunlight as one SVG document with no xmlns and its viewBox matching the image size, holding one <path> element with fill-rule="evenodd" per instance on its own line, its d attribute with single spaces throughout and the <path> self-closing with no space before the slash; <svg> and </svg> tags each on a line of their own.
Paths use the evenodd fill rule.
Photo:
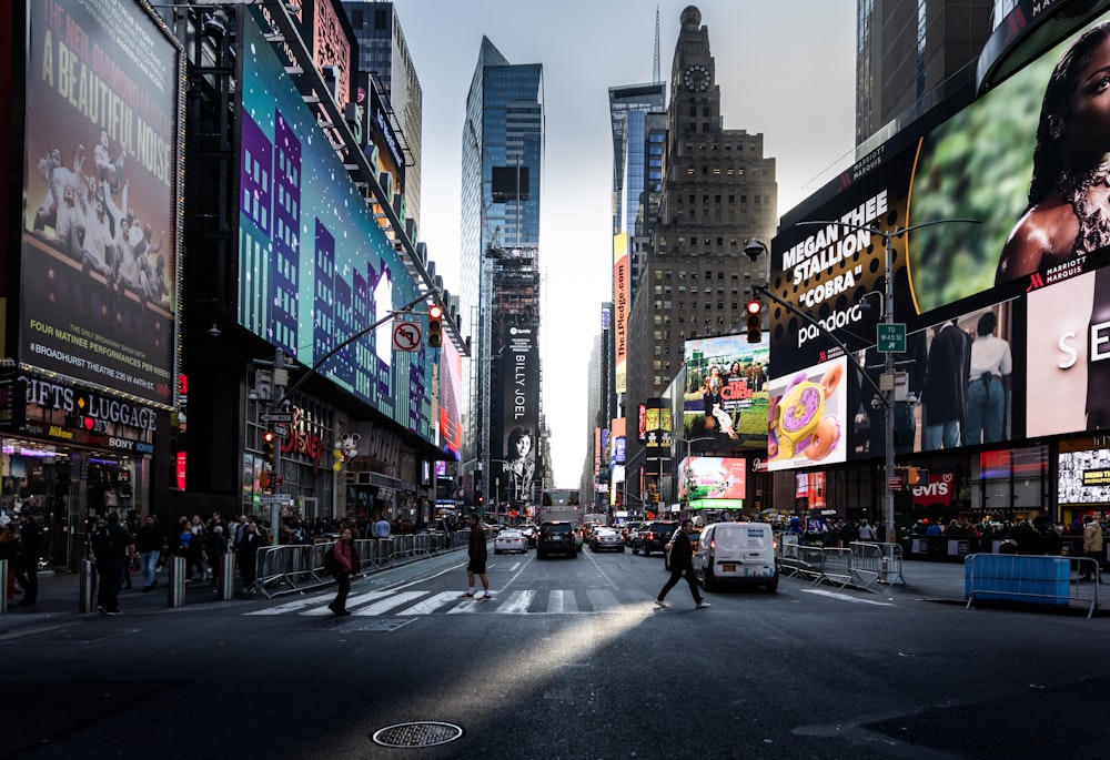
<svg viewBox="0 0 1110 760">
<path fill-rule="evenodd" d="M 356 582 L 346 618 L 325 590 L 124 595 L 118 618 L 0 625 L 0 758 L 1043 758 L 1110 740 L 1108 617 L 796 579 L 706 610 L 679 585 L 658 609 L 662 557 L 490 564 L 490 601 L 460 598 L 456 553 Z"/>
</svg>

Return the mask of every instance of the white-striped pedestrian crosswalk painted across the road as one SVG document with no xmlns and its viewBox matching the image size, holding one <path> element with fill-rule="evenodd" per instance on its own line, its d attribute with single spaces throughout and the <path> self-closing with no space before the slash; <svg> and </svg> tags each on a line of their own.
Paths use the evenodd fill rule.
<svg viewBox="0 0 1110 760">
<path fill-rule="evenodd" d="M 481 589 L 478 595 L 481 595 Z M 347 610 L 359 617 L 416 617 L 427 615 L 576 615 L 647 612 L 655 608 L 650 598 L 606 588 L 491 591 L 492 599 L 464 597 L 458 590 L 392 590 L 352 594 Z M 325 617 L 334 595 L 296 599 L 244 615 L 297 615 Z M 690 605 L 693 607 L 693 604 Z"/>
</svg>

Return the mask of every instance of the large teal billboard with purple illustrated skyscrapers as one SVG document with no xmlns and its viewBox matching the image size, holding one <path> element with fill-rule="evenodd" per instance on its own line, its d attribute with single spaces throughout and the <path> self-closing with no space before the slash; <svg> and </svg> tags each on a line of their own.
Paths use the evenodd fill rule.
<svg viewBox="0 0 1110 760">
<path fill-rule="evenodd" d="M 249 9 L 240 54 L 239 322 L 425 440 L 438 352 L 394 351 L 418 283 L 375 222 Z M 420 318 L 410 315 L 405 318 Z"/>
</svg>

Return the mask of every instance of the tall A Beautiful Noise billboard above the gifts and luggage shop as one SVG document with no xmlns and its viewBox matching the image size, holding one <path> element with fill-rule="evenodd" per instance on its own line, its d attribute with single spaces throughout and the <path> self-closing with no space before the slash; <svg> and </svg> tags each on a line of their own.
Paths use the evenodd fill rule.
<svg viewBox="0 0 1110 760">
<path fill-rule="evenodd" d="M 20 358 L 170 405 L 180 47 L 133 0 L 28 10 Z"/>
</svg>

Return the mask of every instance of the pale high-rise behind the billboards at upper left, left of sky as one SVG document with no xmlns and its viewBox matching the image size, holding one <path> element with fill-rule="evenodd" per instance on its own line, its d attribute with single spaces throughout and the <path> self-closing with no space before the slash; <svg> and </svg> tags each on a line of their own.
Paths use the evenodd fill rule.
<svg viewBox="0 0 1110 760">
<path fill-rule="evenodd" d="M 359 71 L 380 83 L 405 155 L 406 216 L 420 225 L 424 93 L 392 2 L 344 2 L 359 40 Z"/>
</svg>

